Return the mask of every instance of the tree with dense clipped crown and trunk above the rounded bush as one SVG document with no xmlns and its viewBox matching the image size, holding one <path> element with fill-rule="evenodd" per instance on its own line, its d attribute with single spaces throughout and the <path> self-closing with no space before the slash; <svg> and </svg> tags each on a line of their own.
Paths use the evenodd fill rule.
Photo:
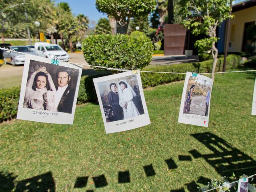
<svg viewBox="0 0 256 192">
<path fill-rule="evenodd" d="M 98 11 L 115 18 L 116 32 L 120 34 L 126 34 L 130 18 L 148 15 L 155 6 L 156 0 L 96 0 Z"/>
</svg>

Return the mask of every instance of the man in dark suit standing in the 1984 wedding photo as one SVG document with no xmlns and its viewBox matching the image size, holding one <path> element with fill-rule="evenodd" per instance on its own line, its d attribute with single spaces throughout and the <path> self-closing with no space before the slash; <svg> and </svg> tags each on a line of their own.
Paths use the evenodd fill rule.
<svg viewBox="0 0 256 192">
<path fill-rule="evenodd" d="M 123 110 L 119 105 L 119 96 L 116 92 L 116 84 L 110 84 L 110 92 L 108 93 L 108 102 L 112 106 L 112 111 L 114 114 L 113 121 L 118 121 L 124 119 Z"/>
</svg>

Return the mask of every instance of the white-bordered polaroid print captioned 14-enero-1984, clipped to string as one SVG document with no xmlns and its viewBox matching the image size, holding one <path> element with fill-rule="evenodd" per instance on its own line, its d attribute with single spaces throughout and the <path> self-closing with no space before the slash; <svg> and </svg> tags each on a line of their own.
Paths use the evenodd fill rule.
<svg viewBox="0 0 256 192">
<path fill-rule="evenodd" d="M 93 79 L 106 133 L 150 124 L 140 72 L 124 72 Z"/>
</svg>

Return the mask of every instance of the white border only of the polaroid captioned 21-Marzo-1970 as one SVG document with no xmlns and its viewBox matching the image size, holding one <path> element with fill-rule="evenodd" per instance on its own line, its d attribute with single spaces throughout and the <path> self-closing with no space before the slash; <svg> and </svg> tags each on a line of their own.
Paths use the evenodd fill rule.
<svg viewBox="0 0 256 192">
<path fill-rule="evenodd" d="M 79 90 L 80 80 L 81 80 L 81 75 L 82 75 L 82 66 L 70 64 L 68 62 L 61 62 L 61 61 L 59 62 L 59 66 L 78 69 L 79 74 L 78 74 L 78 80 L 77 80 L 77 84 L 76 84 L 75 96 L 74 96 L 74 101 L 73 101 L 73 106 L 72 106 L 72 113 L 70 114 L 70 113 L 65 113 L 65 112 L 51 112 L 51 111 L 47 111 L 47 110 L 23 108 L 30 60 L 35 60 L 38 62 L 44 62 L 44 63 L 51 64 L 51 59 L 49 59 L 49 58 L 43 58 L 40 56 L 26 54 L 24 70 L 23 70 L 23 75 L 22 75 L 21 89 L 20 89 L 20 100 L 19 100 L 19 105 L 18 105 L 17 119 L 29 120 L 29 121 L 35 121 L 35 122 L 44 122 L 44 123 L 54 123 L 54 124 L 73 124 L 75 110 L 76 110 L 76 101 L 77 101 L 77 96 L 78 96 L 78 90 Z"/>
</svg>

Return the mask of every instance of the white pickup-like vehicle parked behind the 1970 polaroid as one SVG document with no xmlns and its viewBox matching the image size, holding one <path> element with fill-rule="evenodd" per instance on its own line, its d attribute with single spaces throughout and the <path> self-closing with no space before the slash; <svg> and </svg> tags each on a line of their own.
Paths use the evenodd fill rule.
<svg viewBox="0 0 256 192">
<path fill-rule="evenodd" d="M 50 43 L 35 43 L 35 52 L 38 56 L 53 59 L 54 56 L 58 56 L 60 61 L 69 61 L 70 57 L 66 51 L 64 51 L 57 44 Z"/>
</svg>

